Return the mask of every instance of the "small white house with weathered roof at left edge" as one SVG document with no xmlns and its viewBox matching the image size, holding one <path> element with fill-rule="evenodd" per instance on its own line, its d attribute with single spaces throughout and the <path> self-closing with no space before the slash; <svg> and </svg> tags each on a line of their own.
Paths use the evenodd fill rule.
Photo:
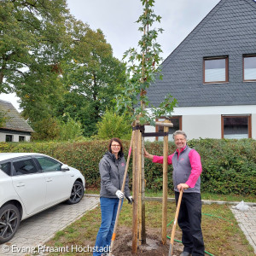
<svg viewBox="0 0 256 256">
<path fill-rule="evenodd" d="M 21 118 L 11 102 L 0 100 L 0 114 L 4 119 L 0 127 L 0 142 L 30 141 L 32 127 Z"/>
</svg>

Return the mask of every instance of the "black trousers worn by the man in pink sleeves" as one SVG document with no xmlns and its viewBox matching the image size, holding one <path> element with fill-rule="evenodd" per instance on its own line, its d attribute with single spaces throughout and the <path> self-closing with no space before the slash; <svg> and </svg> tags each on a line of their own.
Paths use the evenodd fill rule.
<svg viewBox="0 0 256 256">
<path fill-rule="evenodd" d="M 176 204 L 178 192 L 175 192 Z M 205 255 L 204 241 L 201 232 L 201 194 L 183 193 L 177 223 L 183 231 L 184 252 Z"/>
</svg>

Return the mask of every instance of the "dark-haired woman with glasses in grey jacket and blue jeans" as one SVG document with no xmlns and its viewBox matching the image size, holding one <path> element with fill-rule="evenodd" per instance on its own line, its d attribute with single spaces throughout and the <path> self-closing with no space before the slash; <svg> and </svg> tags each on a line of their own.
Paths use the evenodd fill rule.
<svg viewBox="0 0 256 256">
<path fill-rule="evenodd" d="M 119 200 L 124 196 L 129 203 L 132 203 L 132 197 L 129 189 L 129 177 L 125 180 L 124 193 L 121 187 L 125 175 L 125 158 L 123 154 L 123 145 L 119 138 L 112 138 L 108 144 L 108 152 L 102 157 L 99 164 L 101 174 L 101 211 L 102 224 L 96 237 L 96 252 L 94 256 L 108 255 L 110 243 L 113 234 L 113 227 L 119 206 Z"/>
</svg>

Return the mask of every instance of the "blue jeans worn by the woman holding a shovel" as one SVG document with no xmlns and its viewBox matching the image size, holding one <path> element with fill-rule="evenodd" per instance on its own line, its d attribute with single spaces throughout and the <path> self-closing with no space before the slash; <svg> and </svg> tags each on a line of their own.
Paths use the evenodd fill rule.
<svg viewBox="0 0 256 256">
<path fill-rule="evenodd" d="M 93 256 L 99 256 L 102 253 L 109 252 L 113 227 L 119 207 L 118 198 L 101 197 L 100 201 L 102 210 L 102 224 L 96 237 L 95 249 L 97 249 L 97 252 L 94 252 Z"/>
</svg>

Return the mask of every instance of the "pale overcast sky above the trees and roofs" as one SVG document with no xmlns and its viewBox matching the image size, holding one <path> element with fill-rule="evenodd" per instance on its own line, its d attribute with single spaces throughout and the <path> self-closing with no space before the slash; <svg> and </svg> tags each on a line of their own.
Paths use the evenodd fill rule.
<svg viewBox="0 0 256 256">
<path fill-rule="evenodd" d="M 164 32 L 157 42 L 165 60 L 186 38 L 220 0 L 155 0 L 154 14 L 162 17 L 160 27 Z M 87 23 L 91 29 L 100 28 L 113 48 L 113 56 L 122 60 L 131 47 L 137 48 L 141 38 L 136 20 L 143 14 L 140 0 L 67 0 L 70 13 Z M 18 98 L 14 94 L 0 94 L 0 99 L 12 102 L 18 111 Z"/>
</svg>

